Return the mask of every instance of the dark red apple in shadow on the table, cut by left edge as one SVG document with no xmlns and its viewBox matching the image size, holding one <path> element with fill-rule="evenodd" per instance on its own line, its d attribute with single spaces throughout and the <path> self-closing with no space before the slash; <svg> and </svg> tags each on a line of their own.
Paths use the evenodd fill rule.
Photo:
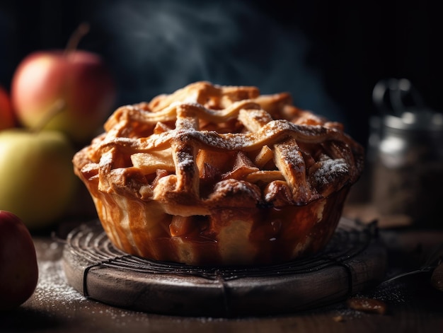
<svg viewBox="0 0 443 333">
<path fill-rule="evenodd" d="M 37 256 L 28 228 L 18 216 L 0 210 L 0 310 L 28 300 L 37 282 Z"/>
</svg>

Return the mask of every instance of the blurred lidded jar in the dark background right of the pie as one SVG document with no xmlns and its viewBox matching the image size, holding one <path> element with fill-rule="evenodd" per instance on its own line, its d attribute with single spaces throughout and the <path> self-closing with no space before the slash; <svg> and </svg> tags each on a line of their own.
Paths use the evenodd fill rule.
<svg viewBox="0 0 443 333">
<path fill-rule="evenodd" d="M 411 105 L 403 102 L 408 94 Z M 380 110 L 368 145 L 373 203 L 380 214 L 443 228 L 443 114 L 425 107 L 405 79 L 381 81 L 373 97 Z"/>
</svg>

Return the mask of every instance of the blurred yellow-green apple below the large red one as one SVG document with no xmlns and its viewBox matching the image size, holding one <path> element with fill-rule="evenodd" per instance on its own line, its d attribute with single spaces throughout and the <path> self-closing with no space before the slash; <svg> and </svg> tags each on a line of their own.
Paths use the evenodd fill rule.
<svg viewBox="0 0 443 333">
<path fill-rule="evenodd" d="M 0 209 L 16 214 L 30 229 L 57 221 L 76 192 L 73 156 L 62 132 L 0 131 Z"/>
</svg>

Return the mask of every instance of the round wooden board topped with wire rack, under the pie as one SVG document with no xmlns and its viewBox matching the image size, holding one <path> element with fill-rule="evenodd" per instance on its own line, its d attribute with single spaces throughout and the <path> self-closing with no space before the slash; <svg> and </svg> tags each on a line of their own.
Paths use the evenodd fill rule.
<svg viewBox="0 0 443 333">
<path fill-rule="evenodd" d="M 263 267 L 190 267 L 127 255 L 100 223 L 69 233 L 68 283 L 108 305 L 165 315 L 275 315 L 338 302 L 384 278 L 386 250 L 374 226 L 342 218 L 323 252 Z"/>
</svg>

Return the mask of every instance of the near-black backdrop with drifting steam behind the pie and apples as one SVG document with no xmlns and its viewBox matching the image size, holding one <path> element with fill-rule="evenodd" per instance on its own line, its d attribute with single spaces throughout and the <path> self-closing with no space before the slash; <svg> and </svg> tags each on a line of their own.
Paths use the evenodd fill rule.
<svg viewBox="0 0 443 333">
<path fill-rule="evenodd" d="M 79 48 L 108 62 L 117 105 L 198 80 L 285 90 L 364 145 L 381 78 L 409 78 L 443 110 L 438 1 L 0 0 L 0 84 L 9 88 L 30 52 L 63 48 L 84 21 Z"/>
</svg>

